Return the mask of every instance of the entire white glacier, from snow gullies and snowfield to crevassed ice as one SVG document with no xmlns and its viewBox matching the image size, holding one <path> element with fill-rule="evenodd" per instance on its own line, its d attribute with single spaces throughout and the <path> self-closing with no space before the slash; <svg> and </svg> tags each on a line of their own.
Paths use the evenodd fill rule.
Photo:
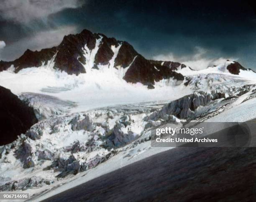
<svg viewBox="0 0 256 202">
<path fill-rule="evenodd" d="M 0 147 L 0 192 L 29 192 L 40 201 L 95 177 L 172 148 L 151 147 L 153 122 L 184 122 L 189 117 L 158 116 L 184 96 L 211 99 L 190 117 L 198 122 L 241 122 L 256 117 L 256 73 L 233 75 L 227 61 L 195 71 L 177 68 L 184 81 L 163 79 L 154 89 L 123 80 L 132 65 L 114 67 L 121 47 L 107 65 L 95 66 L 100 46 L 85 45 L 86 73 L 69 75 L 54 68 L 54 57 L 41 67 L 0 72 L 0 85 L 34 108 L 39 122 L 17 140 Z M 174 106 L 177 107 L 177 106 Z M 186 109 L 190 110 L 190 109 Z M 23 155 L 18 155 L 21 153 Z"/>
</svg>

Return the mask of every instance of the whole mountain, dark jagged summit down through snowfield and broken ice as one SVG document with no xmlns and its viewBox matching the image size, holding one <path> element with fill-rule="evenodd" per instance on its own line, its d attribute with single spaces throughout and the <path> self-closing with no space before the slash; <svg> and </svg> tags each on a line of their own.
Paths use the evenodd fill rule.
<svg viewBox="0 0 256 202">
<path fill-rule="evenodd" d="M 0 191 L 32 190 L 30 200 L 41 201 L 171 149 L 151 145 L 159 124 L 255 118 L 255 72 L 216 65 L 147 60 L 88 30 L 0 61 L 0 85 L 15 94 L 0 87 Z"/>
</svg>

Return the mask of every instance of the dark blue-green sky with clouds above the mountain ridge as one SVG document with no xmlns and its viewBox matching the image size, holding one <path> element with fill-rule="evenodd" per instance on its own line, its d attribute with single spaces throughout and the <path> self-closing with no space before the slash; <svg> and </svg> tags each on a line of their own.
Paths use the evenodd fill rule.
<svg viewBox="0 0 256 202">
<path fill-rule="evenodd" d="M 247 1 L 3 0 L 0 59 L 58 45 L 83 29 L 126 40 L 148 59 L 195 69 L 238 60 L 256 69 L 256 15 Z"/>
</svg>

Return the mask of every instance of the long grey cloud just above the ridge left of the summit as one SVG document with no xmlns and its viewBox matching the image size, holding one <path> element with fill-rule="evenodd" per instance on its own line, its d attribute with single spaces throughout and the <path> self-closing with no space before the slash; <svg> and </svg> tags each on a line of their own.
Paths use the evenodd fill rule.
<svg viewBox="0 0 256 202">
<path fill-rule="evenodd" d="M 65 35 L 77 32 L 76 26 L 58 27 L 57 29 L 37 32 L 33 37 L 26 37 L 8 44 L 0 55 L 1 60 L 11 61 L 20 57 L 27 49 L 41 50 L 59 45 Z M 10 54 L 11 53 L 11 54 Z"/>
</svg>

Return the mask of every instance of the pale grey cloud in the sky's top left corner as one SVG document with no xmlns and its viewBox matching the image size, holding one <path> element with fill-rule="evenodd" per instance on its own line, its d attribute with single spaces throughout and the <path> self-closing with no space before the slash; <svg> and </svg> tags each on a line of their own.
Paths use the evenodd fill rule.
<svg viewBox="0 0 256 202">
<path fill-rule="evenodd" d="M 1 0 L 0 16 L 5 20 L 26 23 L 83 4 L 82 0 Z"/>
</svg>

